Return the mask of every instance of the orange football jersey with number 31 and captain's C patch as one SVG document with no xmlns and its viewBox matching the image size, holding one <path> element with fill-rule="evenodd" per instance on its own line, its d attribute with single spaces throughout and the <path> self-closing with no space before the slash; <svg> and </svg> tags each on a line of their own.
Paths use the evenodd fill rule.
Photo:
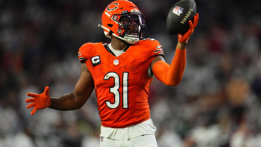
<svg viewBox="0 0 261 147">
<path fill-rule="evenodd" d="M 148 75 L 162 46 L 154 39 L 131 45 L 118 57 L 110 54 L 103 43 L 86 43 L 80 47 L 80 61 L 92 74 L 102 126 L 125 128 L 150 118 Z"/>
</svg>

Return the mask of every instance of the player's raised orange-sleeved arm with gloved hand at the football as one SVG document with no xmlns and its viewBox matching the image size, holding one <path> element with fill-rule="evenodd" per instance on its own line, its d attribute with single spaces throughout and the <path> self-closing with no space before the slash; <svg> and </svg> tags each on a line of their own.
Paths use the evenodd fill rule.
<svg viewBox="0 0 261 147">
<path fill-rule="evenodd" d="M 167 64 L 163 57 L 156 56 L 151 62 L 150 67 L 155 77 L 169 86 L 178 85 L 182 79 L 186 64 L 186 43 L 193 33 L 198 23 L 198 14 L 194 16 L 194 21 L 189 21 L 189 30 L 184 34 L 178 35 L 176 52 L 171 64 Z"/>
</svg>

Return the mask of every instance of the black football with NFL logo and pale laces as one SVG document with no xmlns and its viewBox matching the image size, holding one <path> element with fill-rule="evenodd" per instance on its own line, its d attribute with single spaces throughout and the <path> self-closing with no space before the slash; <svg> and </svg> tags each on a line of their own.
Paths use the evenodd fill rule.
<svg viewBox="0 0 261 147">
<path fill-rule="evenodd" d="M 185 33 L 189 30 L 189 20 L 193 22 L 197 13 L 195 0 L 181 0 L 174 4 L 167 16 L 167 31 L 170 35 Z"/>
</svg>

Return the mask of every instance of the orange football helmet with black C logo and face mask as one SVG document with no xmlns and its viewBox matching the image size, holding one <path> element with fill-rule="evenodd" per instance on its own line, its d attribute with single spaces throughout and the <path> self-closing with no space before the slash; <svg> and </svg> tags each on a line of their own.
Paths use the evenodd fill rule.
<svg viewBox="0 0 261 147">
<path fill-rule="evenodd" d="M 145 17 L 138 7 L 127 0 L 111 2 L 102 14 L 102 25 L 106 37 L 115 36 L 127 43 L 135 44 L 145 34 Z"/>
</svg>

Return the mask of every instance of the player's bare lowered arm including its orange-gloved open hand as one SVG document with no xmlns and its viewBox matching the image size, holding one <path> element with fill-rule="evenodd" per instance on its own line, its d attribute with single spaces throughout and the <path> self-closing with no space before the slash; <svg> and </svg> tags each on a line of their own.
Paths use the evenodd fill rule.
<svg viewBox="0 0 261 147">
<path fill-rule="evenodd" d="M 88 71 L 87 66 L 82 63 L 80 78 L 70 93 L 59 97 L 49 97 L 49 87 L 46 87 L 45 92 L 42 94 L 27 93 L 28 96 L 33 98 L 26 99 L 25 102 L 32 102 L 27 105 L 27 108 L 34 107 L 31 115 L 33 115 L 38 109 L 44 109 L 47 107 L 62 111 L 75 110 L 84 105 L 92 94 L 93 89 L 94 84 L 92 81 L 92 75 Z"/>
</svg>

